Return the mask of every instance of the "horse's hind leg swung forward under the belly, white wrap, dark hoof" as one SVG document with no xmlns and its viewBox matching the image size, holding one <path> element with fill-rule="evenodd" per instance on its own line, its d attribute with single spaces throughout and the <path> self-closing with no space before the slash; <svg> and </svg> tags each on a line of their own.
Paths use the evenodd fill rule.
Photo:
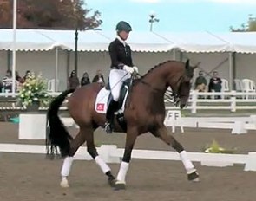
<svg viewBox="0 0 256 201">
<path fill-rule="evenodd" d="M 115 185 L 115 177 L 113 176 L 110 167 L 107 163 L 99 156 L 96 148 L 95 148 L 95 140 L 94 140 L 94 130 L 93 129 L 85 129 L 86 132 L 86 141 L 87 141 L 87 152 L 89 155 L 95 159 L 95 163 L 99 165 L 102 169 L 102 172 L 108 176 L 108 183 L 110 185 Z"/>
</svg>

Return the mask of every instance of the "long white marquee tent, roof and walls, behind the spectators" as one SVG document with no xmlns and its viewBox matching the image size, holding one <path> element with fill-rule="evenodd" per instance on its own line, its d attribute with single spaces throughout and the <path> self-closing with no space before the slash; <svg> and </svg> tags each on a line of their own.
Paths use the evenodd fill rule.
<svg viewBox="0 0 256 201">
<path fill-rule="evenodd" d="M 108 44 L 115 38 L 115 32 L 100 30 L 79 31 L 78 65 L 79 75 L 88 71 L 95 74 L 96 68 L 103 68 L 105 75 L 109 65 Z M 1 75 L 13 49 L 12 29 L 0 30 Z M 206 72 L 220 69 L 220 76 L 232 81 L 235 77 L 249 77 L 255 80 L 253 65 L 256 63 L 256 32 L 249 33 L 174 33 L 135 32 L 128 38 L 134 51 L 134 60 L 146 72 L 158 62 L 167 59 L 190 58 L 193 63 L 201 62 Z M 48 79 L 60 79 L 60 89 L 65 88 L 70 66 L 73 66 L 75 50 L 74 30 L 16 30 L 16 69 L 21 74 L 26 69 L 41 71 Z M 236 53 L 236 54 L 233 54 Z M 234 59 L 235 58 L 235 59 Z M 236 65 L 235 65 L 236 64 Z M 234 68 L 234 66 L 236 68 Z M 106 69 L 106 70 L 105 70 Z"/>
</svg>

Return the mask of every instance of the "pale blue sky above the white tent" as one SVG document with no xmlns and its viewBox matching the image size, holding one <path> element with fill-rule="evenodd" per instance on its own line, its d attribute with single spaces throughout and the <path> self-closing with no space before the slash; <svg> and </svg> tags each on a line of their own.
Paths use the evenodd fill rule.
<svg viewBox="0 0 256 201">
<path fill-rule="evenodd" d="M 149 31 L 149 14 L 159 23 L 155 32 L 228 32 L 240 28 L 249 14 L 256 16 L 256 0 L 84 0 L 87 7 L 102 13 L 102 30 L 113 31 L 127 21 L 136 31 Z"/>
</svg>

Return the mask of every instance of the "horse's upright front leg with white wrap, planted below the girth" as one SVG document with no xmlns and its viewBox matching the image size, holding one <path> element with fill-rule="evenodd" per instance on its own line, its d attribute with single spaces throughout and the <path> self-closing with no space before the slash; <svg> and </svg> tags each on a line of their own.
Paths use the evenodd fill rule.
<svg viewBox="0 0 256 201">
<path fill-rule="evenodd" d="M 125 178 L 128 172 L 129 162 L 131 160 L 132 151 L 135 145 L 135 140 L 138 136 L 137 129 L 129 128 L 126 136 L 125 149 L 123 153 L 123 158 L 119 168 L 119 172 L 115 181 L 115 190 L 125 189 Z"/>
</svg>

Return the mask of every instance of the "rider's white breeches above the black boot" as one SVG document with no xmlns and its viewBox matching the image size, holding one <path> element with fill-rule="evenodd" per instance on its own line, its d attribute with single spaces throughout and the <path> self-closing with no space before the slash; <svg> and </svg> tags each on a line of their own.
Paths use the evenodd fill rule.
<svg viewBox="0 0 256 201">
<path fill-rule="evenodd" d="M 113 95 L 113 99 L 117 101 L 119 99 L 121 85 L 123 81 L 130 78 L 131 75 L 121 69 L 111 69 L 109 74 L 109 84 L 111 88 L 111 94 Z"/>
</svg>

